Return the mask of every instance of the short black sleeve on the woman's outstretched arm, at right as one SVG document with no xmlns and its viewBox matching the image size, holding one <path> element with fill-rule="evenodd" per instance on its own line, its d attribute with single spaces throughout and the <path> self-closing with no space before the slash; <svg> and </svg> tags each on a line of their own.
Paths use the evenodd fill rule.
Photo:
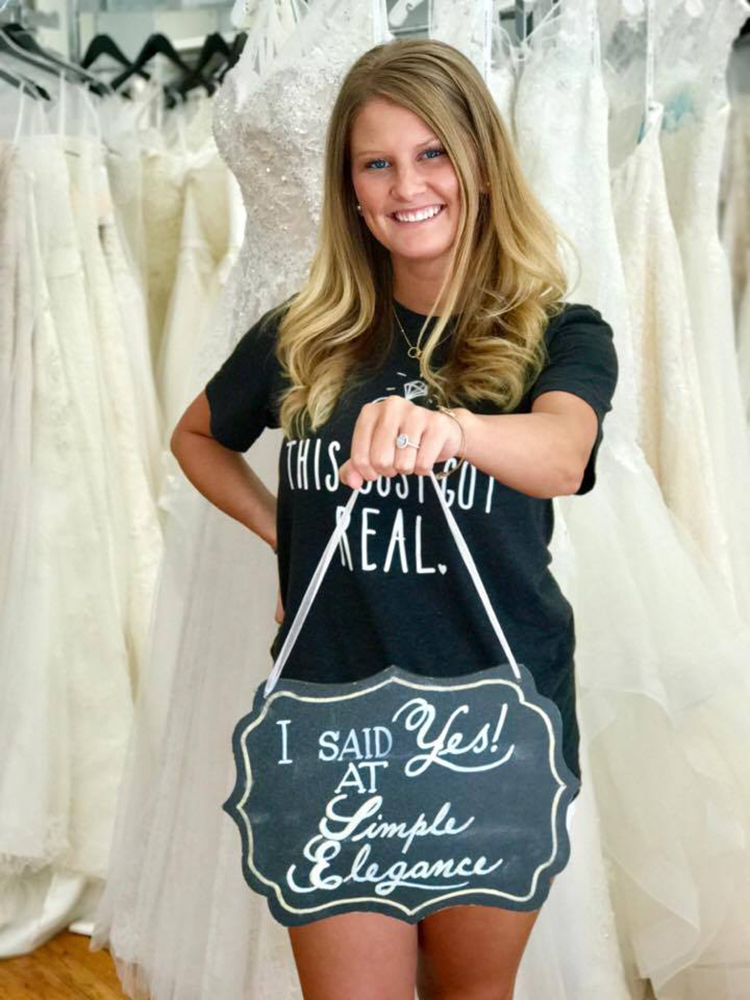
<svg viewBox="0 0 750 1000">
<path fill-rule="evenodd" d="M 604 417 L 612 409 L 618 365 L 612 327 L 588 305 L 568 303 L 554 316 L 547 331 L 549 363 L 530 391 L 533 404 L 545 392 L 570 392 L 596 413 L 596 441 L 577 494 L 596 483 L 596 456 L 603 438 Z"/>
</svg>

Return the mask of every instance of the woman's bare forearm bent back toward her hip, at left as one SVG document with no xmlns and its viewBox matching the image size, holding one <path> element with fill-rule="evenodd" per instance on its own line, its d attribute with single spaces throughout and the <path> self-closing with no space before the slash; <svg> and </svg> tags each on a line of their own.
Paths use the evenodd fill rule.
<svg viewBox="0 0 750 1000">
<path fill-rule="evenodd" d="M 179 427 L 171 447 L 182 471 L 207 500 L 276 548 L 276 497 L 242 455 L 212 437 Z"/>
</svg>

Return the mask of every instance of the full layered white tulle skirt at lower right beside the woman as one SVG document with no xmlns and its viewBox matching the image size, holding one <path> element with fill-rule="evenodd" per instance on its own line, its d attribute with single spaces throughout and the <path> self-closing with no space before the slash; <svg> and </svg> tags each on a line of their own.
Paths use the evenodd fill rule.
<svg viewBox="0 0 750 1000">
<path fill-rule="evenodd" d="M 643 457 L 603 448 L 598 476 L 561 507 L 578 569 L 583 780 L 623 954 L 659 997 L 737 1000 L 750 988 L 750 630 Z"/>
</svg>

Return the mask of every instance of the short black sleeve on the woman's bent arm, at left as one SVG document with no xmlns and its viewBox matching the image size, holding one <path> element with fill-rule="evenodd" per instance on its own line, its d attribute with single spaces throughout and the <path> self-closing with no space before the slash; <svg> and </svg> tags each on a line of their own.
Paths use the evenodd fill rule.
<svg viewBox="0 0 750 1000">
<path fill-rule="evenodd" d="M 265 313 L 238 341 L 206 385 L 211 434 L 225 448 L 247 451 L 265 427 L 278 427 L 275 394 L 278 319 Z"/>
</svg>

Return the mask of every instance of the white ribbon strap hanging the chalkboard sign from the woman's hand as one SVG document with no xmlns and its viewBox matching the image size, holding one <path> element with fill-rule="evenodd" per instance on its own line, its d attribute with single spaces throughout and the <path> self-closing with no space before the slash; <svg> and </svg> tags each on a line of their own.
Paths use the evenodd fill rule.
<svg viewBox="0 0 750 1000">
<path fill-rule="evenodd" d="M 484 610 L 487 613 L 487 617 L 490 620 L 490 624 L 494 629 L 495 635 L 497 636 L 500 645 L 503 647 L 503 652 L 508 658 L 508 663 L 511 665 L 516 680 L 520 680 L 521 671 L 518 669 L 518 664 L 516 663 L 515 657 L 511 652 L 510 646 L 508 645 L 508 640 L 505 638 L 505 633 L 500 627 L 500 622 L 497 620 L 497 615 L 495 614 L 492 605 L 490 604 L 490 599 L 487 596 L 487 591 L 485 590 L 484 584 L 480 579 L 479 572 L 474 563 L 471 552 L 469 552 L 469 547 L 464 541 L 464 537 L 461 534 L 461 529 L 458 527 L 458 524 L 456 524 L 456 519 L 454 518 L 450 507 L 446 503 L 445 497 L 443 495 L 443 490 L 438 484 L 434 472 L 430 472 L 430 479 L 432 480 L 432 485 L 435 487 L 435 492 L 437 493 L 440 506 L 442 507 L 443 513 L 445 514 L 446 519 L 448 521 L 448 527 L 450 528 L 451 534 L 456 540 L 458 551 L 461 553 L 463 561 L 466 564 L 466 568 L 469 571 L 469 576 L 474 582 L 474 586 L 476 587 L 480 600 L 484 605 Z M 349 527 L 352 510 L 354 508 L 354 504 L 357 502 L 357 497 L 359 496 L 359 493 L 360 491 L 358 489 L 352 491 L 352 495 L 349 497 L 347 505 L 341 513 L 339 521 L 333 530 L 333 534 L 328 539 L 328 544 L 326 545 L 323 551 L 323 555 L 320 557 L 320 562 L 318 563 L 315 572 L 312 575 L 310 583 L 307 585 L 307 590 L 305 591 L 305 595 L 302 598 L 299 608 L 297 609 L 297 614 L 294 616 L 294 621 L 292 622 L 291 628 L 287 632 L 286 638 L 284 639 L 281 649 L 279 650 L 279 655 L 276 657 L 276 662 L 274 663 L 273 670 L 271 671 L 268 680 L 266 681 L 266 685 L 263 691 L 265 697 L 268 697 L 268 695 L 276 687 L 276 682 L 279 679 L 281 671 L 284 669 L 284 664 L 289 658 L 289 654 L 292 651 L 292 647 L 297 641 L 297 636 L 299 635 L 302 626 L 305 623 L 305 619 L 307 618 L 310 612 L 312 603 L 315 600 L 315 595 L 318 593 L 320 585 L 323 582 L 323 577 L 325 576 L 329 563 L 333 558 L 333 553 L 336 551 L 339 541 L 341 540 L 341 536 Z"/>
</svg>

